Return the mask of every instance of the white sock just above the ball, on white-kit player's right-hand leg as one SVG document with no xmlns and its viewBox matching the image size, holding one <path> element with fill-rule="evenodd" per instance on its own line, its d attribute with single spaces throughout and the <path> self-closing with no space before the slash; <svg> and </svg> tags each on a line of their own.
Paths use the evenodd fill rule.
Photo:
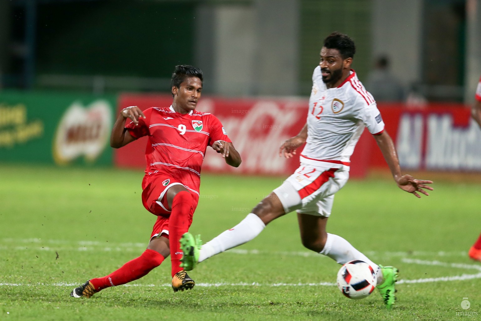
<svg viewBox="0 0 481 321">
<path fill-rule="evenodd" d="M 344 264 L 352 260 L 361 260 L 369 264 L 373 270 L 377 271 L 379 266 L 373 261 L 367 258 L 364 254 L 359 252 L 349 242 L 344 240 L 341 236 L 328 233 L 328 239 L 326 245 L 320 252 L 320 254 L 326 255 L 332 258 L 339 264 Z"/>
</svg>

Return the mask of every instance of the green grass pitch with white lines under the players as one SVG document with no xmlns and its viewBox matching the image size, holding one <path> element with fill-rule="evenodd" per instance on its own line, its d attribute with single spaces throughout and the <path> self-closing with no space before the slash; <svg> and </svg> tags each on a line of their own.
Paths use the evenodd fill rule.
<svg viewBox="0 0 481 321">
<path fill-rule="evenodd" d="M 481 318 L 481 263 L 467 257 L 481 232 L 476 183 L 435 182 L 417 199 L 389 179 L 350 180 L 336 195 L 328 231 L 400 269 L 398 301 L 387 311 L 377 291 L 359 301 L 341 294 L 333 285 L 340 266 L 303 248 L 294 213 L 200 264 L 189 273 L 192 291 L 173 293 L 167 259 L 127 286 L 71 298 L 72 288 L 147 246 L 155 217 L 140 201 L 142 171 L 1 165 L 0 172 L 2 321 Z M 210 240 L 282 180 L 204 174 L 190 231 Z"/>
</svg>

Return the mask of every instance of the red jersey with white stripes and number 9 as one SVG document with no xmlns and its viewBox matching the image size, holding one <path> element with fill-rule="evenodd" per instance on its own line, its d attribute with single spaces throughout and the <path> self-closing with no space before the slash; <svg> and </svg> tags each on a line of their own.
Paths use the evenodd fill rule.
<svg viewBox="0 0 481 321">
<path fill-rule="evenodd" d="M 145 149 L 146 175 L 163 173 L 199 192 L 201 167 L 207 146 L 231 142 L 219 119 L 210 113 L 191 111 L 183 115 L 169 108 L 143 111 L 135 126 L 125 126 L 134 138 L 149 136 Z"/>
</svg>

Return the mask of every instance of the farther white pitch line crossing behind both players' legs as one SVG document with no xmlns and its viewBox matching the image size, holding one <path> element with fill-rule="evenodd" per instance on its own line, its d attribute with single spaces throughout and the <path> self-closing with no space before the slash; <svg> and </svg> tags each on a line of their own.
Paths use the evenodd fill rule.
<svg viewBox="0 0 481 321">
<path fill-rule="evenodd" d="M 6 245 L 8 244 L 8 245 Z M 11 245 L 12 244 L 12 245 Z M 41 240 L 41 239 L 13 239 L 4 238 L 0 240 L 0 251 L 8 250 L 39 250 L 39 251 L 103 251 L 103 252 L 139 252 L 147 247 L 146 243 L 107 243 L 98 241 L 66 241 L 66 240 Z M 230 249 L 228 253 L 240 255 L 275 255 L 285 257 L 319 257 L 318 253 L 312 251 L 260 251 Z M 364 251 L 367 257 L 467 257 L 466 251 Z"/>
</svg>

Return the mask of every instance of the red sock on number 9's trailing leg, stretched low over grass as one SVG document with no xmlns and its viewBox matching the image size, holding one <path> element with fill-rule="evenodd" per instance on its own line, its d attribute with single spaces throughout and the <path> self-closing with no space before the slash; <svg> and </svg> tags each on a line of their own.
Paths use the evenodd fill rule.
<svg viewBox="0 0 481 321">
<path fill-rule="evenodd" d="M 90 282 L 97 291 L 110 286 L 125 284 L 147 275 L 153 268 L 158 267 L 162 261 L 164 261 L 164 257 L 160 253 L 147 249 L 141 256 L 128 261 L 120 269 L 103 278 L 92 279 Z"/>
</svg>

